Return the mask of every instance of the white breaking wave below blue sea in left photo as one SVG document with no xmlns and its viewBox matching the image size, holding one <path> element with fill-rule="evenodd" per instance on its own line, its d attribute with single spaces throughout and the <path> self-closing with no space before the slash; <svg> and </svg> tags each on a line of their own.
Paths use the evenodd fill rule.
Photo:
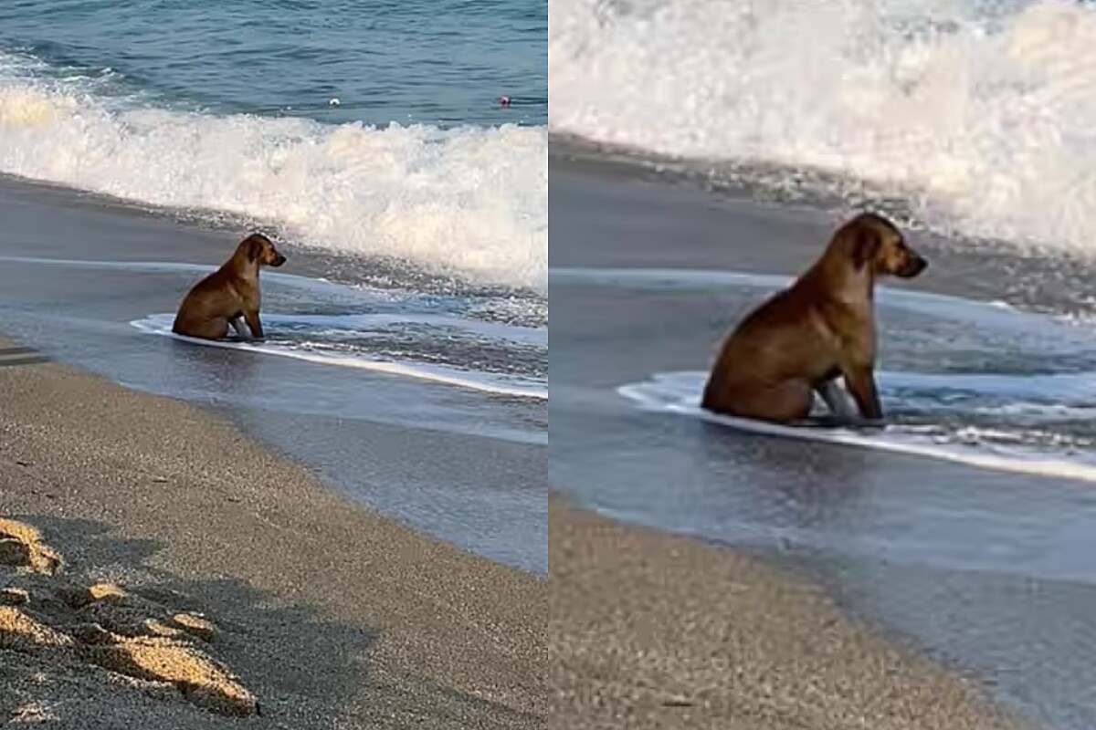
<svg viewBox="0 0 1096 730">
<path fill-rule="evenodd" d="M 544 128 L 214 116 L 50 79 L 0 54 L 0 172 L 241 216 L 336 253 L 546 290 Z"/>
</svg>

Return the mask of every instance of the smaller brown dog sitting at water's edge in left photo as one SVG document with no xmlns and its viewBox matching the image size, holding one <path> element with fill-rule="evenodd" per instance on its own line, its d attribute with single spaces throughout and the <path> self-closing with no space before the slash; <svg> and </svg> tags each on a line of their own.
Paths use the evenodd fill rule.
<svg viewBox="0 0 1096 730">
<path fill-rule="evenodd" d="M 229 325 L 247 339 L 240 324 L 242 316 L 251 336 L 263 338 L 259 322 L 259 267 L 281 266 L 285 256 L 279 254 L 271 240 L 252 233 L 236 247 L 232 257 L 219 269 L 198 281 L 179 305 L 171 332 L 176 335 L 220 339 L 228 334 Z"/>
</svg>

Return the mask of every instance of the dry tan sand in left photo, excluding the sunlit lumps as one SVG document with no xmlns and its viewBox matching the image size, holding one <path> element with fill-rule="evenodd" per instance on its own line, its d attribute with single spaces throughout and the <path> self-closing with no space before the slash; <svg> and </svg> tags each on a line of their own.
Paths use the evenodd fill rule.
<svg viewBox="0 0 1096 730">
<path fill-rule="evenodd" d="M 545 726 L 545 581 L 356 508 L 189 405 L 49 363 L 0 367 L 0 515 L 66 566 L 0 571 L 30 587 L 27 616 L 87 623 L 58 596 L 100 581 L 152 613 L 201 614 L 218 634 L 201 651 L 259 702 L 249 727 Z M 240 722 L 73 659 L 87 648 L 8 646 L 0 718 Z"/>
</svg>

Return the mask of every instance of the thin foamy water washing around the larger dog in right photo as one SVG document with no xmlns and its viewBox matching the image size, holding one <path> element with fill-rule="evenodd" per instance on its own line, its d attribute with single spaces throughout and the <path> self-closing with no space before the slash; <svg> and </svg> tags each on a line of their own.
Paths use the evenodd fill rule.
<svg viewBox="0 0 1096 730">
<path fill-rule="evenodd" d="M 625 287 L 655 297 L 666 291 L 703 297 L 720 286 L 724 304 L 737 313 L 790 282 L 732 271 L 657 269 L 556 269 L 553 280 Z M 877 372 L 886 431 L 722 420 L 754 432 L 1096 482 L 1096 335 L 1089 328 L 940 294 L 880 288 L 877 301 L 888 326 L 882 357 L 893 368 Z M 699 403 L 706 379 L 705 371 L 652 373 L 617 392 L 648 410 L 704 418 Z"/>
</svg>

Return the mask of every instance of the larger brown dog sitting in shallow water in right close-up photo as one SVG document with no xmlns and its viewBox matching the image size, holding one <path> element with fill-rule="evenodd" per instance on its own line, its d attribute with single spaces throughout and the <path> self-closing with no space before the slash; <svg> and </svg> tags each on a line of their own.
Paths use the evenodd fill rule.
<svg viewBox="0 0 1096 730">
<path fill-rule="evenodd" d="M 863 418 L 879 420 L 874 290 L 880 276 L 912 278 L 927 263 L 887 219 L 863 213 L 838 229 L 822 257 L 754 310 L 723 344 L 704 390 L 708 410 L 773 422 L 810 415 L 817 391 L 847 417 L 844 375 Z"/>
</svg>

